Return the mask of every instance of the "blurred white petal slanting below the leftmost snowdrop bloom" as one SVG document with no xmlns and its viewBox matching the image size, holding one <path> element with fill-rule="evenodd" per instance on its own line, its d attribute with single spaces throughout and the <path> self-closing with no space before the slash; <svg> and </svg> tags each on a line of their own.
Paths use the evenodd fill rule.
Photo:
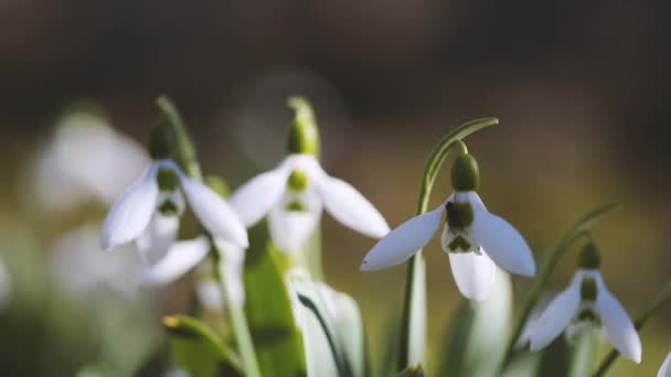
<svg viewBox="0 0 671 377">
<path fill-rule="evenodd" d="M 156 265 L 148 265 L 140 280 L 147 286 L 160 286 L 179 279 L 195 267 L 210 251 L 206 237 L 179 241 Z"/>
</svg>

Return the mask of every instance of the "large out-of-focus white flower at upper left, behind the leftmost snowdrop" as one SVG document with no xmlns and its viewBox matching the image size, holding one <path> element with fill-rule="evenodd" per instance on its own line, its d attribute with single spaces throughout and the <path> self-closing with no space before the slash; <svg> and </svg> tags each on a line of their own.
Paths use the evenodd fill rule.
<svg viewBox="0 0 671 377">
<path fill-rule="evenodd" d="M 67 211 L 90 200 L 111 203 L 147 165 L 134 140 L 92 111 L 70 112 L 56 125 L 32 169 L 31 190 L 42 208 Z"/>
</svg>

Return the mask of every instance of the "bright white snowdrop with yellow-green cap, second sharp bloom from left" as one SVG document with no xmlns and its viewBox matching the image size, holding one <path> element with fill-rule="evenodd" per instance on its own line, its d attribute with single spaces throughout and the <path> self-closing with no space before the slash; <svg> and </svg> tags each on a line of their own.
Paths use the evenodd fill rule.
<svg viewBox="0 0 671 377">
<path fill-rule="evenodd" d="M 249 227 L 268 217 L 270 236 L 284 251 L 296 251 L 316 229 L 326 208 L 343 225 L 380 238 L 388 226 L 375 207 L 344 181 L 327 174 L 316 158 L 318 133 L 309 105 L 290 99 L 296 119 L 289 133 L 291 152 L 277 168 L 257 175 L 231 197 Z"/>
</svg>

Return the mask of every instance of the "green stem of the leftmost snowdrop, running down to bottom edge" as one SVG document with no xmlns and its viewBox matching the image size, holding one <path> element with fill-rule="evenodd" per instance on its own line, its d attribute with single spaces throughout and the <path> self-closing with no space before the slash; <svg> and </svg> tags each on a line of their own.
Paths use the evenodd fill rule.
<svg viewBox="0 0 671 377">
<path fill-rule="evenodd" d="M 203 176 L 195 154 L 195 148 L 193 147 L 193 141 L 191 140 L 187 126 L 184 125 L 184 121 L 182 120 L 177 107 L 168 97 L 164 96 L 157 99 L 157 105 L 161 110 L 161 115 L 163 116 L 162 125 L 168 127 L 172 132 L 171 141 L 173 146 L 170 146 L 170 150 L 173 158 L 182 165 L 187 172 L 187 175 L 194 180 L 202 181 Z M 221 186 L 222 182 L 217 183 L 219 184 L 214 185 L 215 190 Z M 221 186 L 220 188 L 224 186 Z M 222 192 L 220 194 L 225 193 Z M 244 308 L 231 300 L 231 294 L 228 291 L 230 284 L 226 284 L 223 276 L 224 263 L 226 263 L 224 250 L 221 249 L 211 234 L 209 234 L 205 229 L 202 230 L 207 235 L 210 245 L 212 245 L 214 251 L 211 254 L 213 255 L 214 265 L 216 266 L 214 278 L 222 288 L 225 310 L 228 312 L 228 317 L 231 320 L 238 352 L 243 360 L 245 376 L 259 377 L 260 369 L 258 367 L 258 360 L 256 358 L 256 352 L 254 349 L 254 343 L 252 342 L 252 334 L 245 317 Z"/>
</svg>

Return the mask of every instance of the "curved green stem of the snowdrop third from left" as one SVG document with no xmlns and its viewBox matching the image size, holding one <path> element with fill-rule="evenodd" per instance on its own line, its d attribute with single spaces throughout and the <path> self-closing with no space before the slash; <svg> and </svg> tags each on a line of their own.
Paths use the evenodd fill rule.
<svg viewBox="0 0 671 377">
<path fill-rule="evenodd" d="M 449 133 L 433 150 L 422 177 L 422 188 L 419 191 L 419 202 L 417 215 L 426 213 L 428 202 L 434 186 L 434 181 L 445 162 L 447 154 L 455 148 L 460 153 L 466 152 L 466 144 L 461 139 L 486 127 L 498 125 L 497 118 L 483 118 L 465 123 Z M 404 370 L 411 364 L 423 364 L 425 348 L 425 324 L 426 324 L 426 288 L 425 288 L 425 265 L 422 250 L 417 251 L 408 261 L 405 294 L 403 303 L 403 316 L 401 319 L 401 342 L 398 348 L 397 370 Z M 418 308 L 420 312 L 414 311 Z"/>
</svg>

